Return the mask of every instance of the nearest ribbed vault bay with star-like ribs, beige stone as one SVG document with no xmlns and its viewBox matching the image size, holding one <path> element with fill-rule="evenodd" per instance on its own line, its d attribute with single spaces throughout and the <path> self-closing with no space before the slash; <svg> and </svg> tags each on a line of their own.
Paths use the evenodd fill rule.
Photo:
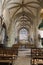
<svg viewBox="0 0 43 65">
<path fill-rule="evenodd" d="M 12 17 L 22 11 L 29 12 L 30 15 L 35 15 L 34 11 L 39 8 L 39 5 L 40 2 L 37 0 L 4 0 L 3 10 L 8 8 Z"/>
</svg>

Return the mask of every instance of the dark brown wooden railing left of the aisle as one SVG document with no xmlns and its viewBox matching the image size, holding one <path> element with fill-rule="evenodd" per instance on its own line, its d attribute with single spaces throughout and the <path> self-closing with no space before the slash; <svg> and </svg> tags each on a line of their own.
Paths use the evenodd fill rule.
<svg viewBox="0 0 43 65">
<path fill-rule="evenodd" d="M 0 60 L 13 60 L 18 55 L 18 50 L 13 48 L 0 48 Z"/>
</svg>

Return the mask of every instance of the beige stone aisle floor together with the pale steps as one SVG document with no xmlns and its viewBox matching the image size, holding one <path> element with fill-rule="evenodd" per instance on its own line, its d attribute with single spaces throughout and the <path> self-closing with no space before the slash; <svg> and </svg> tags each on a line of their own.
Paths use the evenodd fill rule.
<svg viewBox="0 0 43 65">
<path fill-rule="evenodd" d="M 18 57 L 13 65 L 31 65 L 31 49 L 19 49 Z"/>
</svg>

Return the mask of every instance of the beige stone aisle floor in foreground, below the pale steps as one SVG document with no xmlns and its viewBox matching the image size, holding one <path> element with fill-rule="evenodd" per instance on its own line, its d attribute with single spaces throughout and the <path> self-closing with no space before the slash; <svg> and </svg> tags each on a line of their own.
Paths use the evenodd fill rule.
<svg viewBox="0 0 43 65">
<path fill-rule="evenodd" d="M 13 65 L 31 65 L 31 58 L 30 57 L 18 57 L 13 62 Z"/>
</svg>

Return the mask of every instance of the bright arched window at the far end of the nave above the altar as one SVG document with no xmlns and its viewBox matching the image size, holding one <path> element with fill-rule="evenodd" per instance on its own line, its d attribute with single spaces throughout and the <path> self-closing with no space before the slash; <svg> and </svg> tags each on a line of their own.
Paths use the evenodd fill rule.
<svg viewBox="0 0 43 65">
<path fill-rule="evenodd" d="M 19 40 L 28 41 L 28 31 L 25 28 L 19 31 Z"/>
</svg>

